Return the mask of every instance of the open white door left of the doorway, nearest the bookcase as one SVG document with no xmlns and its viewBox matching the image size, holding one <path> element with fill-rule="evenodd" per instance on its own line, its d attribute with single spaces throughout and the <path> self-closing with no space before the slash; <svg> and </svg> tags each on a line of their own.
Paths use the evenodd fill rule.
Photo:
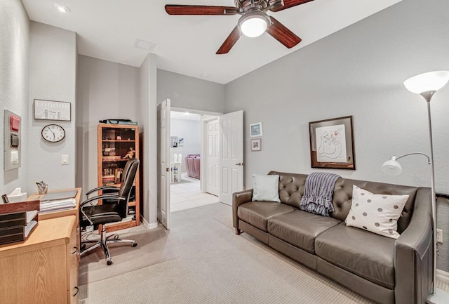
<svg viewBox="0 0 449 304">
<path fill-rule="evenodd" d="M 170 100 L 157 106 L 157 219 L 170 229 Z"/>
</svg>

